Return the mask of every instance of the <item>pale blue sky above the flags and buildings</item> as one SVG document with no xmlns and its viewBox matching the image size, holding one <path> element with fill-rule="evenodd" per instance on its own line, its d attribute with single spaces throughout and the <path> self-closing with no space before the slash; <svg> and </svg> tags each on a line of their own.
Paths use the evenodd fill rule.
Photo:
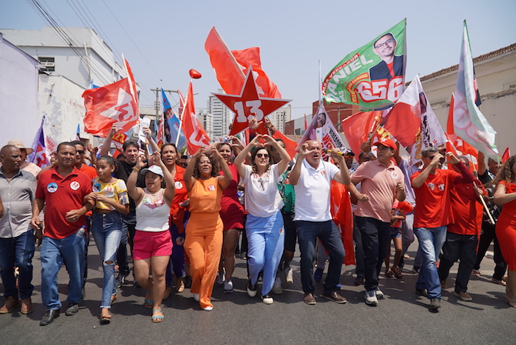
<svg viewBox="0 0 516 345">
<path fill-rule="evenodd" d="M 34 1 L 61 26 L 94 23 L 115 54 L 131 64 L 140 105 L 149 107 L 155 87 L 186 94 L 193 68 L 202 73 L 193 82 L 195 107 L 206 108 L 208 96 L 220 87 L 204 50 L 213 26 L 230 50 L 260 48 L 264 71 L 283 98 L 292 99 L 292 118 L 312 113 L 319 98 L 319 61 L 324 77 L 346 54 L 405 17 L 407 81 L 458 63 L 464 19 L 473 56 L 516 41 L 514 0 L 1 0 L 0 29 L 48 26 L 30 6 Z M 178 101 L 175 94 L 169 99 L 172 105 Z"/>
</svg>

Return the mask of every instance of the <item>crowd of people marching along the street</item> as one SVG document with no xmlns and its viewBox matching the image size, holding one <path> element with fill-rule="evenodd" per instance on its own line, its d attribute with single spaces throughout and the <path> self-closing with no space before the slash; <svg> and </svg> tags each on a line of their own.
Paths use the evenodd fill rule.
<svg viewBox="0 0 516 345">
<path fill-rule="evenodd" d="M 162 301 L 172 291 L 190 289 L 200 308 L 212 311 L 215 283 L 224 293 L 234 291 L 240 233 L 246 242 L 246 291 L 249 297 L 260 293 L 264 304 L 282 292 L 281 275 L 292 284 L 296 243 L 303 302 L 316 304 L 314 280 L 322 280 L 326 261 L 322 297 L 347 302 L 339 290 L 348 231 L 355 284 L 365 286 L 368 305 L 384 297 L 378 286 L 384 264 L 387 278 L 402 278 L 406 251 L 417 237 L 415 291 L 428 298 L 429 309 L 440 308 L 458 260 L 454 294 L 472 300 L 469 277 L 481 274 L 493 239 L 492 281 L 506 286 L 506 301 L 516 307 L 516 156 L 501 166 L 491 159 L 486 165 L 479 153 L 472 173 L 468 157 L 425 147 L 420 165 L 409 166 L 399 145 L 384 138 L 373 145 L 376 154 L 366 142 L 357 163 L 351 151 L 326 151 L 316 140 L 303 143 L 291 158 L 282 140 L 254 133 L 248 145 L 228 137 L 202 146 L 186 163 L 175 145 L 158 147 L 149 129 L 147 145 L 129 139 L 114 157 L 116 132 L 114 125 L 99 152 L 80 141 L 59 144 L 44 169 L 25 160 L 32 149 L 20 140 L 1 148 L 0 313 L 32 312 L 35 242 L 41 244 L 46 309 L 40 325 L 60 314 L 57 275 L 63 264 L 69 275 L 65 314 L 78 313 L 90 233 L 103 265 L 101 324 L 111 322 L 117 289 L 131 273 L 130 258 L 135 286 L 147 291 L 143 305 L 152 310 L 152 322 L 164 320 Z"/>
</svg>

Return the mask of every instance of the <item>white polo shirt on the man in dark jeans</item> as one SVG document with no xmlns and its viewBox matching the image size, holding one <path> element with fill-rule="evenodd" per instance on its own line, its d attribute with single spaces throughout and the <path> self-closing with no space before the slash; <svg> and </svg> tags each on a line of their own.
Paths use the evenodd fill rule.
<svg viewBox="0 0 516 345">
<path fill-rule="evenodd" d="M 314 169 L 306 159 L 301 165 L 301 175 L 297 185 L 294 220 L 325 222 L 332 220 L 330 213 L 330 187 L 332 179 L 340 171 L 332 163 L 323 160 Z"/>
</svg>

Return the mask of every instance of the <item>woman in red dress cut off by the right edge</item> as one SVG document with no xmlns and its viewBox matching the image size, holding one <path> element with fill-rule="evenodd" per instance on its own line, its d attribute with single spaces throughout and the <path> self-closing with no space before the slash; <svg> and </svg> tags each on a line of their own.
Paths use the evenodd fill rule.
<svg viewBox="0 0 516 345">
<path fill-rule="evenodd" d="M 516 156 L 510 157 L 493 180 L 494 201 L 504 205 L 496 223 L 496 236 L 508 264 L 506 301 L 516 307 Z"/>
</svg>

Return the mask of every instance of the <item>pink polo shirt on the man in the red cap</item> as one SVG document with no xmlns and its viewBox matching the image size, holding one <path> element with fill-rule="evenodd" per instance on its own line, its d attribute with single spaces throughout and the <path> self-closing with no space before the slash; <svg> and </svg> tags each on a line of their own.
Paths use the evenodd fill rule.
<svg viewBox="0 0 516 345">
<path fill-rule="evenodd" d="M 351 176 L 353 182 L 361 182 L 361 193 L 369 200 L 357 202 L 355 216 L 369 217 L 391 222 L 391 209 L 396 196 L 396 185 L 403 183 L 403 172 L 391 161 L 389 166 L 379 160 L 362 163 Z M 404 184 L 405 185 L 405 184 Z"/>
</svg>

